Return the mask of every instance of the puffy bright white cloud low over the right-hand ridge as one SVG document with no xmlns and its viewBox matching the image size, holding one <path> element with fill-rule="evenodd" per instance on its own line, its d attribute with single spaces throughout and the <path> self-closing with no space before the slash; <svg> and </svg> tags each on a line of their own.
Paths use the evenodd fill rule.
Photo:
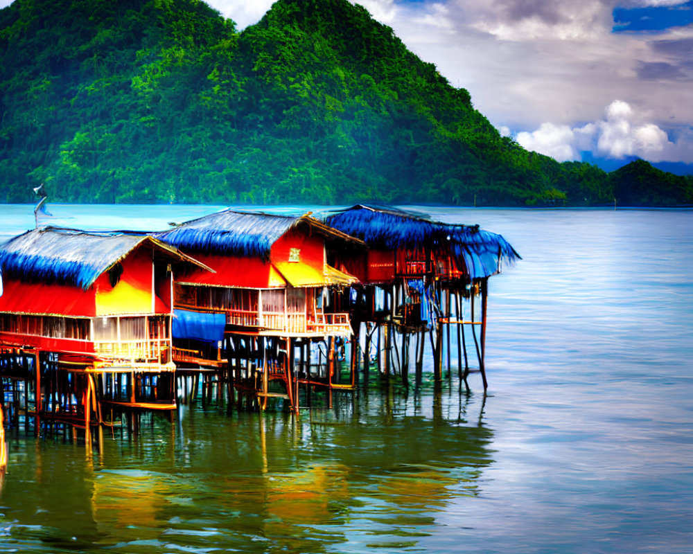
<svg viewBox="0 0 693 554">
<path fill-rule="evenodd" d="M 663 129 L 644 121 L 623 100 L 613 100 L 605 115 L 605 119 L 581 127 L 542 123 L 534 132 L 519 132 L 516 141 L 557 161 L 578 161 L 581 152 L 588 151 L 611 159 L 635 156 L 653 162 L 693 161 L 691 129 L 682 129 L 678 141 L 672 142 Z"/>
</svg>

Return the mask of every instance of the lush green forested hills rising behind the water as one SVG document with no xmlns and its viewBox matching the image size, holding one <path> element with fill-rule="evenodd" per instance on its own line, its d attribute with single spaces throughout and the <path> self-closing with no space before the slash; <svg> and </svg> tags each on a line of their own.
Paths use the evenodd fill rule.
<svg viewBox="0 0 693 554">
<path fill-rule="evenodd" d="M 521 109 L 521 107 L 518 107 Z M 242 33 L 197 0 L 0 10 L 0 202 L 693 202 L 693 179 L 607 174 L 501 137 L 347 0 L 279 0 Z"/>
</svg>

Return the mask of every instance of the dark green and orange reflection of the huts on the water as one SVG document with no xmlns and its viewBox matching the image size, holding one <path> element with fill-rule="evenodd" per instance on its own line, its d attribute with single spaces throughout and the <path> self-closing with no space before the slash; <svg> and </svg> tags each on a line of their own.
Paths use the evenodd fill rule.
<svg viewBox="0 0 693 554">
<path fill-rule="evenodd" d="M 10 439 L 0 552 L 416 548 L 475 495 L 492 433 L 473 397 L 360 393 L 296 420 L 182 408 L 139 434 Z M 473 414 L 473 420 L 466 414 Z"/>
</svg>

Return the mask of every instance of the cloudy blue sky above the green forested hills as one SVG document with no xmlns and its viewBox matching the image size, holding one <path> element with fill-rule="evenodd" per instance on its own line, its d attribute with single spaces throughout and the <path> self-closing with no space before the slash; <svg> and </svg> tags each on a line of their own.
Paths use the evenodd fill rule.
<svg viewBox="0 0 693 554">
<path fill-rule="evenodd" d="M 272 1 L 207 3 L 244 28 Z M 358 3 L 525 148 L 693 172 L 693 1 Z"/>
</svg>

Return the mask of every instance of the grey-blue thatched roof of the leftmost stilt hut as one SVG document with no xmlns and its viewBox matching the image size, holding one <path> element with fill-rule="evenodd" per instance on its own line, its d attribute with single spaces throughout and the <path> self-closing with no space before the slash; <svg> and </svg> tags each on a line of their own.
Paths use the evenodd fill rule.
<svg viewBox="0 0 693 554">
<path fill-rule="evenodd" d="M 27 231 L 1 244 L 0 268 L 8 277 L 67 283 L 88 289 L 98 276 L 141 244 L 150 244 L 157 257 L 209 269 L 147 235 L 56 227 Z"/>
</svg>

